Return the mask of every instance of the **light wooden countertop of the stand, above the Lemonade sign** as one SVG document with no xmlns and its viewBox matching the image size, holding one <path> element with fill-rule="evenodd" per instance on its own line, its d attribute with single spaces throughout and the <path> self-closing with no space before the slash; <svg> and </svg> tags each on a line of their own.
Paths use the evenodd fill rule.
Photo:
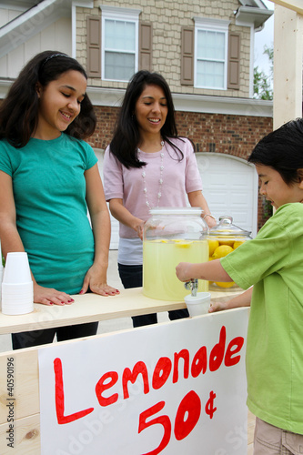
<svg viewBox="0 0 303 455">
<path fill-rule="evenodd" d="M 235 292 L 211 291 L 211 298 L 227 300 L 237 293 L 238 290 Z M 131 316 L 186 308 L 184 301 L 172 302 L 148 298 L 143 295 L 142 288 L 122 289 L 119 295 L 113 297 L 85 294 L 75 295 L 73 298 L 75 302 L 72 305 L 62 307 L 35 304 L 34 311 L 25 315 L 8 316 L 0 313 L 0 334 L 49 329 L 106 319 L 130 318 Z"/>
</svg>

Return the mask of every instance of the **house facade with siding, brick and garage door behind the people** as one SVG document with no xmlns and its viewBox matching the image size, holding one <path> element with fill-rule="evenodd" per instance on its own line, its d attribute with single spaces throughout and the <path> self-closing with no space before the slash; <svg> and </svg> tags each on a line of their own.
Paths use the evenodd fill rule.
<svg viewBox="0 0 303 455">
<path fill-rule="evenodd" d="M 157 71 L 173 93 L 177 129 L 196 145 L 216 217 L 256 235 L 267 214 L 247 156 L 272 130 L 272 103 L 253 97 L 254 36 L 272 14 L 261 0 L 11 0 L 0 3 L 0 98 L 45 49 L 85 66 L 98 118 L 99 158 L 111 140 L 127 81 Z M 112 248 L 117 227 L 113 221 Z"/>
</svg>

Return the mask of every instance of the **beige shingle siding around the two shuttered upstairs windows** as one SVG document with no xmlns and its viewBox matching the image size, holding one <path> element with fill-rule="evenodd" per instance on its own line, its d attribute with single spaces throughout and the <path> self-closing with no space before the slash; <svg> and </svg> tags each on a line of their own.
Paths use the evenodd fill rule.
<svg viewBox="0 0 303 455">
<path fill-rule="evenodd" d="M 86 66 L 86 15 L 100 15 L 99 5 L 125 7 L 125 0 L 98 0 L 93 9 L 76 8 L 77 58 Z M 235 25 L 233 12 L 237 0 L 129 0 L 127 7 L 141 9 L 141 21 L 153 23 L 153 70 L 166 77 L 173 92 L 214 95 L 249 96 L 250 29 Z M 168 12 L 170 10 L 170 12 Z M 229 31 L 241 35 L 239 90 L 206 90 L 181 86 L 181 27 L 194 26 L 193 17 L 230 20 Z M 89 84 L 104 87 L 125 87 L 125 83 L 90 79 Z"/>
</svg>

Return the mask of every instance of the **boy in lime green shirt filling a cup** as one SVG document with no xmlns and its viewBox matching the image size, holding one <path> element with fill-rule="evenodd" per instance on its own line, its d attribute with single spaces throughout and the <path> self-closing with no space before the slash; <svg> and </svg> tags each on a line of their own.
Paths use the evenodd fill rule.
<svg viewBox="0 0 303 455">
<path fill-rule="evenodd" d="M 303 119 L 264 137 L 248 161 L 277 210 L 253 240 L 177 277 L 235 281 L 247 289 L 224 308 L 249 306 L 247 406 L 256 415 L 255 455 L 303 453 Z"/>
</svg>

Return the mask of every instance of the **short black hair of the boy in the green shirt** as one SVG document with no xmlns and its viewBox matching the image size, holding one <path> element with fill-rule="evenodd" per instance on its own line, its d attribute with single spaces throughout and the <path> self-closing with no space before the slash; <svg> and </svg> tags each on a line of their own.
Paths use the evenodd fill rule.
<svg viewBox="0 0 303 455">
<path fill-rule="evenodd" d="M 290 186 L 303 179 L 303 118 L 291 120 L 263 137 L 247 161 L 278 171 Z"/>
</svg>

